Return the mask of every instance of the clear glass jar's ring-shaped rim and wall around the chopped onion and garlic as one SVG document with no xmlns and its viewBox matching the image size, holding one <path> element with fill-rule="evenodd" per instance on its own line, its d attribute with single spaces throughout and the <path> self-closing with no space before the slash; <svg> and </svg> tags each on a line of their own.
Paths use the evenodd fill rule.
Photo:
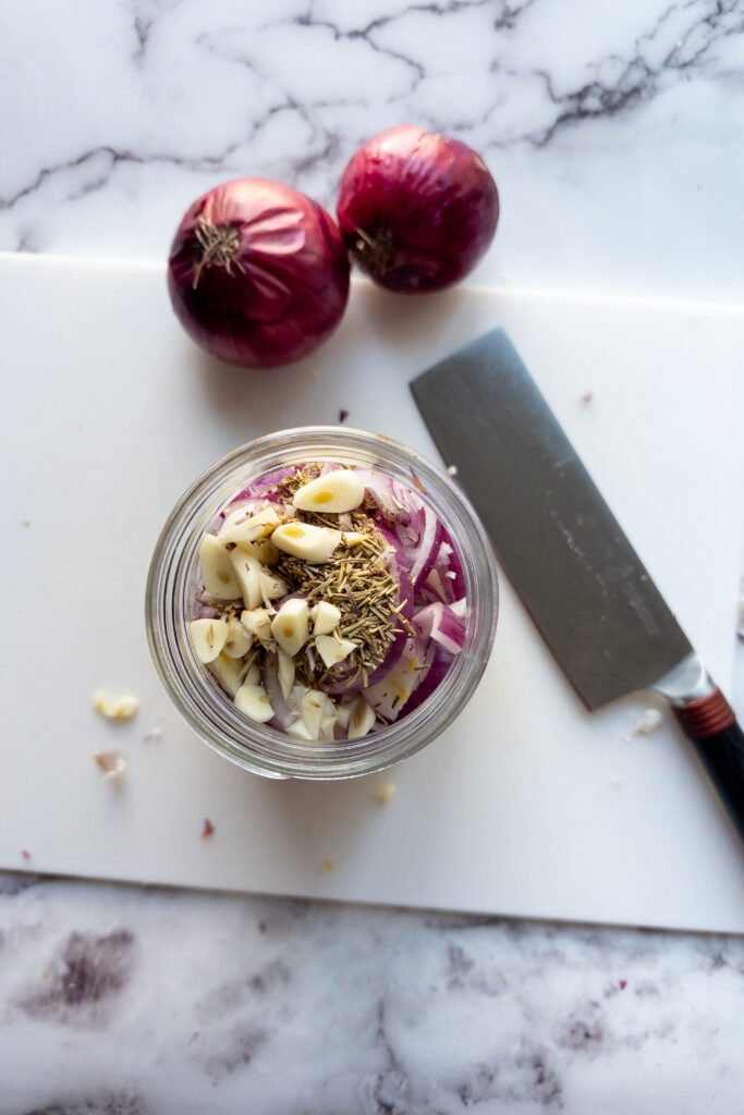
<svg viewBox="0 0 744 1115">
<path fill-rule="evenodd" d="M 221 508 L 267 473 L 307 460 L 375 468 L 410 486 L 448 531 L 463 566 L 467 637 L 439 686 L 399 720 L 357 740 L 303 743 L 248 719 L 196 658 L 189 639 L 197 588 L 199 545 Z M 418 486 L 418 485 L 417 485 Z M 249 442 L 192 484 L 155 546 L 146 590 L 149 648 L 161 680 L 196 735 L 221 755 L 271 778 L 352 778 L 381 770 L 438 736 L 466 705 L 485 669 L 497 613 L 491 545 L 474 510 L 438 468 L 398 442 L 338 426 L 280 430 Z"/>
</svg>

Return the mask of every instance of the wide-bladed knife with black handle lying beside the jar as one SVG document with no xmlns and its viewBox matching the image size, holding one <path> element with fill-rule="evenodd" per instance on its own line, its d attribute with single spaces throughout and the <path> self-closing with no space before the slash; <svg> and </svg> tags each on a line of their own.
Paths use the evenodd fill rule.
<svg viewBox="0 0 744 1115">
<path fill-rule="evenodd" d="M 588 709 L 671 705 L 744 840 L 744 734 L 503 329 L 410 384 L 446 465 Z"/>
</svg>

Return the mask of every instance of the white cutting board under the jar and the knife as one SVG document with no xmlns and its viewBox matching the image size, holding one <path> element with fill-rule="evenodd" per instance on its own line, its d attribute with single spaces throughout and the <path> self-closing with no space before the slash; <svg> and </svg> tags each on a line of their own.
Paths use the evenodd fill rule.
<svg viewBox="0 0 744 1115">
<path fill-rule="evenodd" d="M 245 774 L 193 737 L 160 688 L 145 573 L 192 478 L 258 434 L 335 421 L 341 407 L 350 425 L 436 459 L 407 381 L 496 323 L 731 685 L 736 310 L 465 289 L 396 299 L 358 284 L 329 345 L 261 375 L 191 345 L 160 266 L 4 256 L 2 865 L 744 931 L 744 855 L 688 746 L 668 720 L 625 741 L 642 696 L 586 714 L 503 579 L 476 696 L 387 775 L 319 786 Z M 102 720 L 90 708 L 98 687 L 137 694 L 139 717 Z M 145 740 L 155 725 L 162 739 Z M 91 759 L 110 746 L 128 753 L 120 788 Z M 373 791 L 386 780 L 397 795 L 383 807 Z"/>
</svg>

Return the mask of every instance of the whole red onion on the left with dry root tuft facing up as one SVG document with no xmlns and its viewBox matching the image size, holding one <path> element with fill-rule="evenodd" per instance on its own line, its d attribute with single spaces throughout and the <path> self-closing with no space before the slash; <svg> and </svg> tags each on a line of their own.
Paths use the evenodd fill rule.
<svg viewBox="0 0 744 1115">
<path fill-rule="evenodd" d="M 249 368 L 299 360 L 341 319 L 349 261 L 334 219 L 279 182 L 216 186 L 185 213 L 171 246 L 168 291 L 186 332 Z"/>
</svg>

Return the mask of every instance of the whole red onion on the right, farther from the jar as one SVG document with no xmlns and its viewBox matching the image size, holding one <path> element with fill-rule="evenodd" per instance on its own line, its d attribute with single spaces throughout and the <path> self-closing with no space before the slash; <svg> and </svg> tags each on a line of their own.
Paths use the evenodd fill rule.
<svg viewBox="0 0 744 1115">
<path fill-rule="evenodd" d="M 460 139 L 405 124 L 359 148 L 337 212 L 359 266 L 380 287 L 416 293 L 448 287 L 475 266 L 496 231 L 499 192 Z"/>
</svg>

